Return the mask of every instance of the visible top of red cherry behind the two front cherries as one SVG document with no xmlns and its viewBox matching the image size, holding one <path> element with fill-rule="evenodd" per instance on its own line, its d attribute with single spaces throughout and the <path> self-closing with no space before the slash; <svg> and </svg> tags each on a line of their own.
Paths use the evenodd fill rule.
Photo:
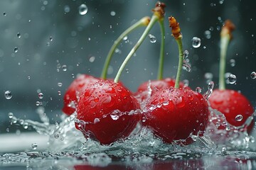
<svg viewBox="0 0 256 170">
<path fill-rule="evenodd" d="M 169 87 L 174 87 L 175 85 L 175 79 L 166 78 L 161 80 L 151 80 L 150 81 L 150 88 L 151 88 L 151 96 L 156 93 L 156 91 L 159 91 L 161 89 L 166 89 Z M 180 87 L 183 87 L 184 84 L 180 82 Z M 146 81 L 139 85 L 137 92 L 134 94 L 134 96 L 137 96 L 139 98 L 139 101 L 144 101 L 149 98 L 149 81 Z M 186 87 L 189 89 L 188 87 Z"/>
</svg>

